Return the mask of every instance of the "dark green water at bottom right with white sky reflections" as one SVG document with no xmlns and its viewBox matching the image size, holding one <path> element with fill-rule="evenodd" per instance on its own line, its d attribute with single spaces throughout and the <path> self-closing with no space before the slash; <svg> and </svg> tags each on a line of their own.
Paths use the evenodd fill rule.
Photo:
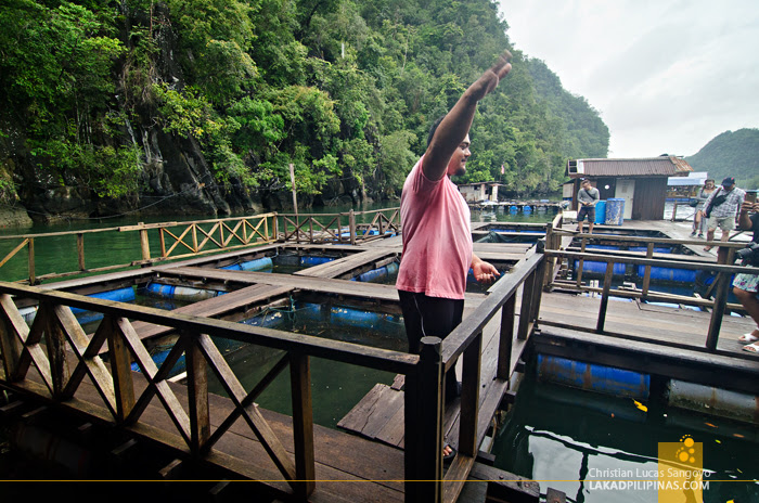
<svg viewBox="0 0 759 503">
<path fill-rule="evenodd" d="M 602 481 L 651 480 L 658 442 L 690 436 L 703 444 L 705 502 L 759 501 L 759 483 L 751 481 L 759 478 L 755 425 L 670 408 L 660 395 L 644 407 L 540 383 L 530 371 L 496 438 L 496 466 L 538 480 L 543 494 L 549 487 L 563 491 L 567 501 L 655 502 L 656 489 L 604 488 Z"/>
</svg>

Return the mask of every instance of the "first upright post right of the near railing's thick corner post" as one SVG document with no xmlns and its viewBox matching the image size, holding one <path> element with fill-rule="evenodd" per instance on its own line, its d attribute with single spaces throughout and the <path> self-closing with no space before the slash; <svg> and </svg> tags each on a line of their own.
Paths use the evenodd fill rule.
<svg viewBox="0 0 759 503">
<path fill-rule="evenodd" d="M 477 416 L 479 412 L 479 374 L 480 352 L 483 350 L 483 333 L 472 340 L 464 350 L 462 382 L 461 382 L 461 416 L 459 426 L 459 453 L 476 457 Z"/>
</svg>

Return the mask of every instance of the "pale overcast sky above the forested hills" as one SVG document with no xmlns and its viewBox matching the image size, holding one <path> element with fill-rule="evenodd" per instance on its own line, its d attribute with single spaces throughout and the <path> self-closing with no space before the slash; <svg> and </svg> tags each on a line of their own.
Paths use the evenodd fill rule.
<svg viewBox="0 0 759 503">
<path fill-rule="evenodd" d="M 757 0 L 499 0 L 512 44 L 609 128 L 609 157 L 693 155 L 759 128 Z"/>
</svg>

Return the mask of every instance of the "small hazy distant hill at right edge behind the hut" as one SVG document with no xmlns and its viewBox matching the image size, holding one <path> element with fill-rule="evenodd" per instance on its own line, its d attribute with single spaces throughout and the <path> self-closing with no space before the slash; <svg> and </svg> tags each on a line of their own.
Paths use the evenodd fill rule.
<svg viewBox="0 0 759 503">
<path fill-rule="evenodd" d="M 735 177 L 741 189 L 759 189 L 759 129 L 725 131 L 685 160 L 695 171 L 708 171 L 717 183 Z"/>
</svg>

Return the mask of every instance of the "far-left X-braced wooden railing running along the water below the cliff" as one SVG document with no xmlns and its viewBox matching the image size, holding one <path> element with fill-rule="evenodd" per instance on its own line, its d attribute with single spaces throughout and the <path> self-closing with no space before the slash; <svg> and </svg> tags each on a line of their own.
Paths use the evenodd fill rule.
<svg viewBox="0 0 759 503">
<path fill-rule="evenodd" d="M 115 241 L 117 233 L 133 233 L 134 240 L 129 242 L 129 248 L 133 258 L 127 262 L 110 263 L 103 267 L 88 268 L 86 265 L 87 250 L 85 237 L 94 234 L 111 233 Z M 76 236 L 76 249 L 60 249 L 61 237 Z M 99 236 L 100 237 L 100 236 Z M 55 244 L 50 243 L 55 241 Z M 114 227 L 106 229 L 91 229 L 82 231 L 49 232 L 40 234 L 0 236 L 0 242 L 17 242 L 15 247 L 0 260 L 0 271 L 12 258 L 27 249 L 27 282 L 38 284 L 43 280 L 52 280 L 81 273 L 105 272 L 128 267 L 146 266 L 168 259 L 179 259 L 196 255 L 211 254 L 254 244 L 271 243 L 276 241 L 276 214 L 256 215 L 252 217 L 219 218 L 211 220 L 196 220 L 185 222 L 138 223 L 137 225 Z M 159 248 L 155 250 L 155 245 Z M 11 245 L 12 246 L 12 245 Z M 63 272 L 48 272 L 38 274 L 37 253 L 35 248 L 55 246 L 59 256 L 77 257 L 77 269 Z M 102 246 L 102 244 L 101 244 Z M 125 247 L 125 246 L 121 246 Z M 98 252 L 102 252 L 102 248 Z M 123 259 L 120 259 L 123 260 Z M 0 278 L 7 278 L 0 275 Z"/>
</svg>

